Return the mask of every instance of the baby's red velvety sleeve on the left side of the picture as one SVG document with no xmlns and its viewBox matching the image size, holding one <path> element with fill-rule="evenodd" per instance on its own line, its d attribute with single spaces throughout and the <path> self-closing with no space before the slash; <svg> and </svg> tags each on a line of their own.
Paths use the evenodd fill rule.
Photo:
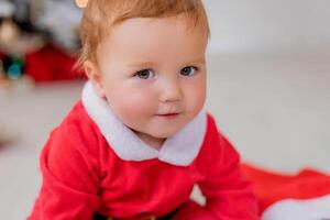
<svg viewBox="0 0 330 220">
<path fill-rule="evenodd" d="M 41 155 L 42 188 L 29 220 L 92 219 L 100 201 L 98 152 L 90 146 L 98 147 L 84 138 L 87 130 L 65 121 L 51 134 Z"/>
</svg>

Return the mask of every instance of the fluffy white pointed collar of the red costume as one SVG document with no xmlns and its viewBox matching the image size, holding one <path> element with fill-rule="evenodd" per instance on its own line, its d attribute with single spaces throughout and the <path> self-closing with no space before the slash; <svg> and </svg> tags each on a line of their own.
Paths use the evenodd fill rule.
<svg viewBox="0 0 330 220">
<path fill-rule="evenodd" d="M 144 143 L 114 116 L 108 102 L 97 96 L 90 81 L 82 90 L 82 105 L 109 145 L 124 161 L 158 158 L 173 165 L 187 166 L 197 157 L 206 134 L 207 114 L 202 110 L 179 132 L 168 138 L 158 151 Z"/>
</svg>

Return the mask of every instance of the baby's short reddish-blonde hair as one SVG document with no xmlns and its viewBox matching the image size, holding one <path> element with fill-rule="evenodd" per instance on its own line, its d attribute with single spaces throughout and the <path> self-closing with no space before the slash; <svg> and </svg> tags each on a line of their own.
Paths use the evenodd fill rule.
<svg viewBox="0 0 330 220">
<path fill-rule="evenodd" d="M 210 35 L 201 0 L 89 0 L 80 24 L 81 52 L 77 66 L 89 59 L 97 63 L 99 43 L 110 28 L 132 18 L 168 18 L 184 14 L 195 28 L 200 23 Z"/>
</svg>

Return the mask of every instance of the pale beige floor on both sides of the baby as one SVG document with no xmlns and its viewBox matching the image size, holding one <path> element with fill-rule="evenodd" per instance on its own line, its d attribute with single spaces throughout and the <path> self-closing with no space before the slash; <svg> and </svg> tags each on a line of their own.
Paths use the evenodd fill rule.
<svg viewBox="0 0 330 220">
<path fill-rule="evenodd" d="M 1 219 L 29 213 L 41 183 L 40 151 L 81 86 L 41 85 L 11 95 L 0 88 L 0 124 L 18 136 L 0 148 Z M 306 166 L 330 172 L 330 55 L 211 55 L 207 107 L 244 161 L 289 173 Z"/>
</svg>

